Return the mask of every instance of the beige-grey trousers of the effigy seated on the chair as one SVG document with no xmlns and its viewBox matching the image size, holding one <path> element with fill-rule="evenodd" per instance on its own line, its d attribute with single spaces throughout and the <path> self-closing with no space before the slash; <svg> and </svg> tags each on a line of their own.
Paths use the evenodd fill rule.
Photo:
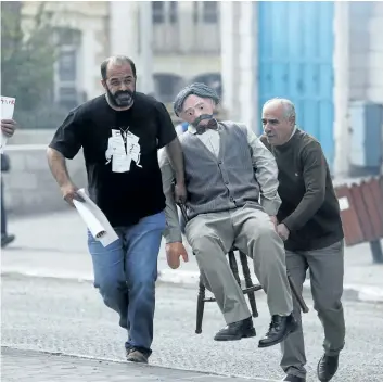
<svg viewBox="0 0 383 382">
<path fill-rule="evenodd" d="M 202 214 L 187 224 L 186 235 L 203 282 L 214 293 L 227 323 L 251 317 L 226 258 L 232 245 L 253 259 L 255 275 L 267 293 L 270 314 L 288 316 L 292 313 L 283 242 L 267 214 L 252 205 Z"/>
</svg>

